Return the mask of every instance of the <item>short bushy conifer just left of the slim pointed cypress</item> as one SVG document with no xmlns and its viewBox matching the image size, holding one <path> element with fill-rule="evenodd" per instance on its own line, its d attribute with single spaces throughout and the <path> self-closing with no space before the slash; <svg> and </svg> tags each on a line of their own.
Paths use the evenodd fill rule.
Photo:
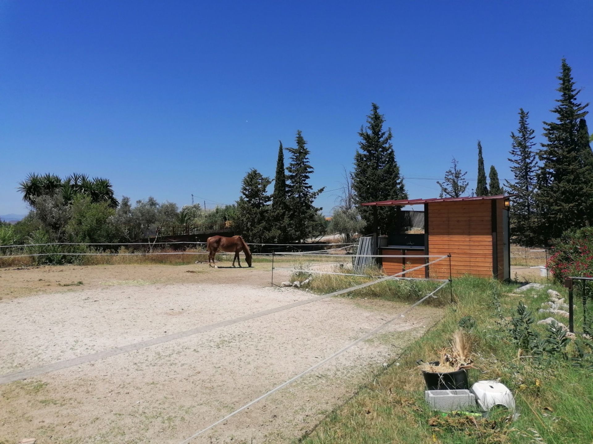
<svg viewBox="0 0 593 444">
<path fill-rule="evenodd" d="M 269 202 L 267 187 L 272 183 L 252 168 L 243 178 L 241 197 L 237 201 L 235 226 L 246 242 L 267 242 L 270 233 Z"/>
</svg>

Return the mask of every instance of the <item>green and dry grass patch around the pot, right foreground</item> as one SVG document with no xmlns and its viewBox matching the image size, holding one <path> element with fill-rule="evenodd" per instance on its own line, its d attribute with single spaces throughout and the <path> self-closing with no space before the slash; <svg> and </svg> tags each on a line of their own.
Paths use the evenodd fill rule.
<svg viewBox="0 0 593 444">
<path fill-rule="evenodd" d="M 487 279 L 455 279 L 452 288 L 456 304 L 449 305 L 444 318 L 404 350 L 396 361 L 399 365 L 390 365 L 299 441 L 307 444 L 591 443 L 593 378 L 587 367 L 593 363 L 575 360 L 579 352 L 572 341 L 551 352 L 550 332 L 536 323 L 549 316 L 537 313 L 541 303 L 548 299 L 546 290 L 509 295 L 517 287 L 517 284 Z M 566 295 L 565 289 L 554 288 Z M 527 348 L 519 346 L 512 333 L 511 320 L 519 318 L 517 307 L 521 301 L 531 310 L 533 323 L 529 330 L 539 341 Z M 425 384 L 416 361 L 435 359 L 436 350 L 449 345 L 452 333 L 460 328 L 460 321 L 473 343 L 474 365 L 478 368 L 470 369 L 470 384 L 499 379 L 515 395 L 517 419 L 511 420 L 508 411 L 500 411 L 488 419 L 463 414 L 442 416 L 425 404 Z M 593 352 L 590 347 L 581 346 Z M 538 348 L 544 350 L 539 356 Z"/>
</svg>

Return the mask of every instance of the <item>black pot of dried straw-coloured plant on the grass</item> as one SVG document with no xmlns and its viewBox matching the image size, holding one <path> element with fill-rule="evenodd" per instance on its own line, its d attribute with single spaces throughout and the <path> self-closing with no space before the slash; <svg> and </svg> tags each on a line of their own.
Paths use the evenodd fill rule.
<svg viewBox="0 0 593 444">
<path fill-rule="evenodd" d="M 438 350 L 439 360 L 418 361 L 428 390 L 464 390 L 469 388 L 467 369 L 475 368 L 471 360 L 471 343 L 463 330 L 453 334 L 451 346 Z"/>
</svg>

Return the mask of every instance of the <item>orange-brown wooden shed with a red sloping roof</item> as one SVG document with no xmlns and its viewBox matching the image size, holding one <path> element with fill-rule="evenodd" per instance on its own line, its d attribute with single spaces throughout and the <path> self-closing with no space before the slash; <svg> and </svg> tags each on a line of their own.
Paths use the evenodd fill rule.
<svg viewBox="0 0 593 444">
<path fill-rule="evenodd" d="M 378 254 L 404 256 L 381 258 L 387 274 L 400 273 L 434 258 L 451 255 L 452 276 L 465 274 L 500 280 L 511 277 L 509 245 L 509 197 L 505 195 L 407 199 L 366 202 L 385 207 L 423 205 L 424 233 L 391 233 L 378 238 Z M 449 260 L 410 272 L 408 277 L 449 278 Z"/>
</svg>

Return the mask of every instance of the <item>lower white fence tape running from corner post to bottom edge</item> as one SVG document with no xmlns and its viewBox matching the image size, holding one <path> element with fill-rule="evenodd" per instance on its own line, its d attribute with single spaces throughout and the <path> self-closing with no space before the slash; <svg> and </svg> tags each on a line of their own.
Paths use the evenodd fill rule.
<svg viewBox="0 0 593 444">
<path fill-rule="evenodd" d="M 447 256 L 445 256 L 445 257 L 447 257 Z M 428 264 L 426 264 L 426 265 L 428 265 Z M 388 276 L 388 278 L 391 278 L 391 276 Z M 377 284 L 378 282 L 381 282 L 381 281 L 384 281 L 384 280 L 385 279 L 378 279 L 378 281 L 368 282 L 367 284 L 373 285 L 373 284 Z M 187 443 L 191 442 L 195 437 L 197 437 L 199 435 L 202 435 L 202 433 L 207 432 L 208 430 L 212 429 L 212 427 L 215 427 L 218 424 L 225 422 L 226 420 L 230 419 L 232 416 L 235 416 L 237 413 L 240 413 L 241 411 L 245 410 L 246 408 L 249 408 L 249 407 L 253 406 L 253 404 L 256 404 L 258 401 L 261 401 L 264 398 L 268 397 L 269 395 L 273 394 L 274 392 L 276 392 L 276 391 L 278 391 L 278 390 L 286 387 L 286 385 L 289 385 L 292 382 L 297 381 L 297 379 L 304 377 L 305 375 L 311 373 L 312 371 L 314 371 L 315 369 L 317 369 L 320 366 L 324 365 L 325 363 L 331 361 L 334 358 L 337 358 L 337 356 L 342 355 L 342 353 L 347 352 L 347 350 L 353 348 L 354 346 L 358 345 L 362 341 L 368 339 L 371 336 L 374 336 L 374 334 L 380 332 L 382 329 L 384 329 L 385 327 L 387 327 L 388 325 L 390 325 L 391 323 L 393 323 L 394 321 L 396 321 L 398 318 L 402 318 L 402 317 L 406 316 L 406 314 L 409 313 L 414 307 L 416 307 L 416 305 L 421 304 L 423 301 L 425 301 L 429 297 L 433 296 L 437 291 L 439 291 L 439 289 L 445 287 L 445 285 L 447 285 L 447 284 L 449 284 L 449 281 L 448 280 L 446 282 L 443 282 L 441 285 L 439 285 L 438 288 L 436 288 L 435 290 L 429 292 L 429 294 L 427 294 L 425 297 L 423 297 L 422 299 L 420 299 L 419 301 L 417 301 L 415 304 L 410 305 L 410 307 L 406 308 L 406 310 L 402 311 L 400 314 L 398 314 L 397 316 L 391 318 L 390 320 L 388 320 L 384 324 L 381 324 L 380 326 L 376 327 L 375 329 L 371 330 L 370 332 L 364 334 L 364 336 L 359 337 L 354 342 L 349 343 L 344 348 L 342 348 L 342 349 L 338 350 L 337 352 L 333 353 L 333 355 L 328 356 L 327 358 L 323 359 L 323 361 L 316 363 L 315 365 L 311 366 L 307 370 L 299 373 L 298 375 L 292 377 L 291 379 L 288 379 L 288 381 L 285 381 L 282 384 L 277 385 L 276 387 L 274 387 L 272 390 L 267 391 L 266 393 L 264 393 L 260 397 L 254 399 L 254 400 L 252 400 L 250 402 L 248 402 L 247 404 L 244 404 L 244 406 L 241 406 L 241 407 L 237 408 L 237 410 L 233 411 L 232 413 L 229 413 L 227 416 L 225 416 L 222 419 L 219 419 L 215 423 L 210 424 L 205 429 L 199 430 L 199 432 L 194 433 L 192 436 L 188 437 L 187 439 L 184 439 L 179 444 L 187 444 Z M 362 284 L 362 285 L 364 285 L 364 284 Z M 361 287 L 361 286 L 360 285 L 357 285 L 356 287 Z M 353 288 L 356 288 L 356 287 L 352 287 L 352 289 Z M 346 289 L 346 290 L 352 291 L 352 289 Z M 344 291 L 344 290 L 342 290 L 342 291 Z"/>
</svg>

